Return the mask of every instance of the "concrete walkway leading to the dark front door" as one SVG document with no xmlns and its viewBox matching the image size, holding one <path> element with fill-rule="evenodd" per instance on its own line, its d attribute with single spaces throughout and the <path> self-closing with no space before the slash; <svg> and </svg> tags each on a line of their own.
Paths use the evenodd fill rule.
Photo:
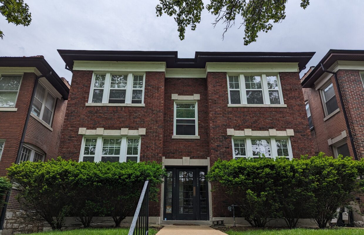
<svg viewBox="0 0 364 235">
<path fill-rule="evenodd" d="M 165 225 L 157 235 L 227 235 L 208 226 Z"/>
</svg>

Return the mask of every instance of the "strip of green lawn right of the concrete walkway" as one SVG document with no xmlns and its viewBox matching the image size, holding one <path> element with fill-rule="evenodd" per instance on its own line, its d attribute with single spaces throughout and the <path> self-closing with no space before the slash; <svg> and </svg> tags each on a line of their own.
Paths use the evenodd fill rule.
<svg viewBox="0 0 364 235">
<path fill-rule="evenodd" d="M 337 229 L 282 229 L 282 230 L 228 230 L 225 233 L 229 235 L 363 235 L 364 229 L 360 228 L 337 228 Z"/>
</svg>

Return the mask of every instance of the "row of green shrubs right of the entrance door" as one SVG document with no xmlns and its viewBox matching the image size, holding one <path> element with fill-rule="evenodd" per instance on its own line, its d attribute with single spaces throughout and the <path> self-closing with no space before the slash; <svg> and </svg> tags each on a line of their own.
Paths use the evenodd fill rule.
<svg viewBox="0 0 364 235">
<path fill-rule="evenodd" d="M 275 218 L 297 226 L 310 218 L 325 228 L 337 208 L 347 206 L 363 192 L 364 159 L 324 156 L 324 153 L 292 161 L 260 157 L 218 160 L 207 179 L 213 190 L 224 193 L 254 227 Z"/>
</svg>

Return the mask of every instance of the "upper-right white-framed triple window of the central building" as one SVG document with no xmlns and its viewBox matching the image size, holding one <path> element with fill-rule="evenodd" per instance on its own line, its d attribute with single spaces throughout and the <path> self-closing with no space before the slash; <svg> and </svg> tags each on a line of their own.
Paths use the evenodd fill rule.
<svg viewBox="0 0 364 235">
<path fill-rule="evenodd" d="M 229 104 L 283 104 L 278 74 L 227 75 Z"/>
</svg>

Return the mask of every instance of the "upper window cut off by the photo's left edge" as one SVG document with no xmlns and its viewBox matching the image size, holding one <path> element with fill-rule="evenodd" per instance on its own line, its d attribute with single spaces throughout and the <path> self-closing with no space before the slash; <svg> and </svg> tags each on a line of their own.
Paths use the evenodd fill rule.
<svg viewBox="0 0 364 235">
<path fill-rule="evenodd" d="M 0 75 L 0 107 L 15 107 L 22 75 Z"/>
</svg>

